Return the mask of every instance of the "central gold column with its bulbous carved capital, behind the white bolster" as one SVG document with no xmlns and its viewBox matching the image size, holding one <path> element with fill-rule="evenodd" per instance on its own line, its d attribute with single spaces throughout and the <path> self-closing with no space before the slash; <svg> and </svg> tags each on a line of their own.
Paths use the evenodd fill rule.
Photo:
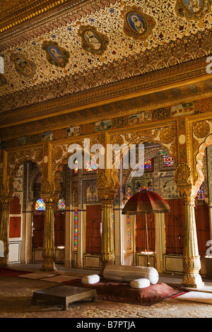
<svg viewBox="0 0 212 332">
<path fill-rule="evenodd" d="M 114 237 L 112 230 L 112 206 L 117 190 L 110 184 L 108 174 L 100 173 L 97 180 L 98 194 L 102 201 L 102 249 L 101 270 L 102 275 L 105 266 L 114 264 Z"/>
</svg>

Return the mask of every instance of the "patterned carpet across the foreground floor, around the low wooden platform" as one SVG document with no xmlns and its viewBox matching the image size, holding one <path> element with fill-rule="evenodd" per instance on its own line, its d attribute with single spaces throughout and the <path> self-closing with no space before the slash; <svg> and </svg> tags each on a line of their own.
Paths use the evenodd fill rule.
<svg viewBox="0 0 212 332">
<path fill-rule="evenodd" d="M 167 298 L 151 307 L 121 302 L 81 301 L 69 305 L 64 311 L 51 303 L 31 304 L 33 292 L 57 286 L 43 280 L 28 278 L 7 278 L 0 276 L 0 317 L 1 318 L 212 318 L 210 304 L 187 302 Z"/>
</svg>

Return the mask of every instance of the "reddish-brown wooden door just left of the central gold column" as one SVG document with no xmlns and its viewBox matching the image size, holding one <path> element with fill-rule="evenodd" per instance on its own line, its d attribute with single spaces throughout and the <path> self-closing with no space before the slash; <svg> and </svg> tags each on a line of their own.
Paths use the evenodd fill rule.
<svg viewBox="0 0 212 332">
<path fill-rule="evenodd" d="M 86 208 L 86 253 L 100 254 L 101 252 L 101 206 L 87 206 Z"/>
</svg>

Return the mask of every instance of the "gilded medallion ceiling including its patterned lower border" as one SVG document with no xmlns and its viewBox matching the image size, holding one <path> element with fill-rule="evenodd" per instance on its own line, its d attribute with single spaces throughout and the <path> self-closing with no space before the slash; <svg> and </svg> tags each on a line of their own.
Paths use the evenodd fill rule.
<svg viewBox="0 0 212 332">
<path fill-rule="evenodd" d="M 136 77 L 151 88 L 160 73 L 179 74 L 177 66 L 182 74 L 198 68 L 203 74 L 198 61 L 212 53 L 211 0 L 68 2 L 45 19 L 37 16 L 0 35 L 5 64 L 0 112 Z M 22 13 L 23 3 L 32 5 L 31 11 L 39 5 L 18 1 Z M 13 8 L 6 10 L 11 19 Z"/>
</svg>

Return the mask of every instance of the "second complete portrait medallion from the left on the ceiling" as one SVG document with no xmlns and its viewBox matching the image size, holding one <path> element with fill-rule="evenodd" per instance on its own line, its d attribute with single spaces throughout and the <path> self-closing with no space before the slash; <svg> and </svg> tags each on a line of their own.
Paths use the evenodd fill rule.
<svg viewBox="0 0 212 332">
<path fill-rule="evenodd" d="M 64 68 L 69 61 L 69 52 L 62 47 L 59 47 L 57 42 L 45 41 L 42 44 L 42 49 L 46 52 L 49 64 Z"/>
</svg>

